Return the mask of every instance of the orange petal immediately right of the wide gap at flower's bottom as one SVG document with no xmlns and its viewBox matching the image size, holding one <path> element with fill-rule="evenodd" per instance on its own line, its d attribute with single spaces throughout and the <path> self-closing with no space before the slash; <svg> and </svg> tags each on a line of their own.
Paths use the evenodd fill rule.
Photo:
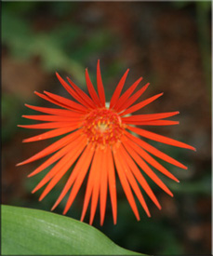
<svg viewBox="0 0 213 256">
<path fill-rule="evenodd" d="M 136 206 L 134 196 L 132 195 L 132 191 L 131 191 L 131 188 L 129 186 L 129 182 L 126 179 L 126 171 L 124 170 L 124 168 L 122 168 L 121 163 L 119 161 L 119 156 L 118 156 L 118 153 L 117 153 L 118 150 L 119 150 L 119 148 L 116 148 L 116 145 L 113 146 L 113 159 L 114 159 L 114 162 L 115 162 L 116 170 L 117 170 L 117 173 L 118 173 L 118 176 L 119 176 L 119 180 L 120 180 L 120 182 L 122 184 L 122 187 L 124 189 L 124 192 L 126 194 L 126 198 L 128 200 L 128 203 L 129 203 L 131 209 L 133 210 L 133 212 L 136 216 L 136 219 L 139 221 L 140 220 L 139 210 Z"/>
</svg>

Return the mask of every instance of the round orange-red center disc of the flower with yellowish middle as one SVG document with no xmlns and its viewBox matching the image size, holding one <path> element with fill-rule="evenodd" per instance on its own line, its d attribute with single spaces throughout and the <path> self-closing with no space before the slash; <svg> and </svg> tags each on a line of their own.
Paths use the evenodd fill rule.
<svg viewBox="0 0 213 256">
<path fill-rule="evenodd" d="M 119 141 L 124 130 L 119 115 L 110 109 L 101 108 L 91 111 L 83 124 L 89 142 L 100 145 L 113 145 Z"/>
</svg>

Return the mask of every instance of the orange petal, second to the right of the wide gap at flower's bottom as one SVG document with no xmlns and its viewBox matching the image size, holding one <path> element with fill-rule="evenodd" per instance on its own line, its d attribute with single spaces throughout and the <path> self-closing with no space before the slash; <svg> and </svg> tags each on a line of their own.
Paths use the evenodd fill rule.
<svg viewBox="0 0 213 256">
<path fill-rule="evenodd" d="M 118 157 L 119 157 L 119 161 L 121 162 L 121 165 L 126 170 L 126 178 L 129 182 L 129 184 L 131 185 L 132 190 L 135 192 L 135 195 L 137 195 L 137 197 L 140 201 L 140 205 L 145 210 L 148 217 L 151 217 L 151 214 L 150 214 L 150 211 L 147 207 L 147 204 L 146 204 L 146 202 L 145 202 L 145 200 L 144 200 L 144 198 L 143 198 L 143 196 L 140 192 L 140 187 L 139 187 L 138 183 L 136 182 L 130 168 L 128 167 L 128 165 L 126 163 L 126 158 L 124 157 L 124 155 L 122 155 L 122 150 L 118 151 Z"/>
</svg>

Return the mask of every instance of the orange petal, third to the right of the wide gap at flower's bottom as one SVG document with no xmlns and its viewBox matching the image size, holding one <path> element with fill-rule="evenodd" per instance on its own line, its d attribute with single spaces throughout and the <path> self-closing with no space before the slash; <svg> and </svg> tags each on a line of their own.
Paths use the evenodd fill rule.
<svg viewBox="0 0 213 256">
<path fill-rule="evenodd" d="M 135 178 L 138 182 L 140 182 L 141 187 L 144 189 L 147 195 L 150 196 L 150 198 L 153 200 L 153 203 L 157 206 L 158 209 L 161 209 L 161 206 L 156 198 L 156 196 L 153 194 L 153 190 L 151 189 L 148 182 L 146 182 L 145 178 L 142 176 L 140 169 L 137 167 L 131 156 L 127 153 L 125 147 L 121 146 L 122 154 L 125 155 L 126 162 L 128 164 L 128 167 L 131 169 L 132 173 L 134 174 Z"/>
</svg>

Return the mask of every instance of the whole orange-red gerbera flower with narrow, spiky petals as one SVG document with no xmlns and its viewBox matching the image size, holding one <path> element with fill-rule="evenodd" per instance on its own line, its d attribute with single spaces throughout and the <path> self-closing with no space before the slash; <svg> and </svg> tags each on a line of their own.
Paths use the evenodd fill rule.
<svg viewBox="0 0 213 256">
<path fill-rule="evenodd" d="M 140 79 L 121 95 L 128 72 L 129 70 L 122 76 L 115 88 L 109 107 L 106 106 L 105 101 L 104 88 L 100 74 L 100 61 L 98 61 L 97 64 L 98 94 L 92 85 L 87 69 L 86 82 L 89 96 L 83 90 L 78 88 L 70 78 L 67 77 L 68 84 L 60 77 L 60 74 L 56 73 L 60 80 L 60 84 L 69 92 L 75 101 L 68 100 L 47 91 L 44 91 L 43 94 L 35 91 L 34 93 L 37 96 L 58 105 L 61 108 L 46 108 L 26 104 L 27 107 L 47 115 L 23 115 L 25 118 L 44 121 L 44 123 L 20 127 L 51 130 L 32 138 L 25 139 L 23 142 L 47 140 L 49 138 L 64 135 L 59 141 L 50 144 L 41 152 L 18 164 L 18 166 L 28 164 L 53 154 L 42 165 L 34 169 L 33 172 L 28 175 L 28 177 L 32 177 L 53 163 L 56 163 L 42 181 L 33 189 L 34 193 L 47 184 L 43 193 L 40 195 L 39 200 L 42 200 L 51 189 L 60 182 L 60 179 L 69 171 L 76 161 L 76 164 L 73 167 L 58 200 L 52 207 L 52 210 L 60 204 L 64 195 L 70 191 L 69 198 L 63 211 L 63 214 L 66 214 L 72 206 L 73 200 L 84 182 L 87 172 L 87 190 L 81 221 L 85 218 L 87 207 L 91 200 L 90 224 L 92 224 L 94 220 L 99 200 L 100 224 L 103 224 L 108 190 L 112 203 L 113 222 L 116 223 L 117 199 L 115 172 L 119 177 L 128 203 L 137 220 L 140 220 L 140 214 L 136 206 L 133 192 L 138 197 L 146 214 L 151 216 L 141 193 L 140 186 L 144 192 L 150 196 L 157 208 L 161 209 L 156 196 L 153 194 L 152 188 L 143 177 L 143 172 L 145 172 L 153 182 L 168 195 L 173 196 L 171 191 L 166 187 L 166 184 L 158 178 L 150 166 L 162 172 L 175 182 L 179 182 L 179 180 L 158 163 L 152 155 L 179 168 L 186 169 L 186 167 L 169 155 L 154 148 L 143 139 L 140 139 L 139 136 L 134 136 L 132 132 L 145 139 L 159 141 L 176 147 L 195 149 L 183 142 L 175 141 L 151 131 L 135 127 L 177 125 L 179 122 L 165 120 L 165 118 L 177 115 L 179 112 L 132 115 L 158 99 L 163 93 L 134 104 L 146 88 L 148 88 L 149 84 L 146 84 L 134 92 L 142 80 L 142 77 L 140 77 Z"/>
</svg>

